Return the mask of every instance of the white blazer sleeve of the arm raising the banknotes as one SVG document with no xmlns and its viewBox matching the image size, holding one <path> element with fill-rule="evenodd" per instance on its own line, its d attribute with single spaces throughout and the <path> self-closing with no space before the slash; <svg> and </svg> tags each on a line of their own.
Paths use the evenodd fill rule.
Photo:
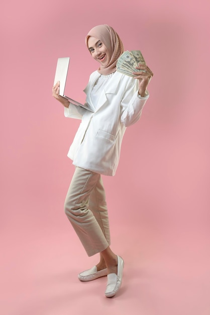
<svg viewBox="0 0 210 315">
<path fill-rule="evenodd" d="M 143 107 L 149 98 L 148 91 L 145 97 L 138 96 L 138 89 L 138 81 L 130 77 L 121 101 L 121 122 L 126 127 L 135 124 L 140 119 Z"/>
</svg>

